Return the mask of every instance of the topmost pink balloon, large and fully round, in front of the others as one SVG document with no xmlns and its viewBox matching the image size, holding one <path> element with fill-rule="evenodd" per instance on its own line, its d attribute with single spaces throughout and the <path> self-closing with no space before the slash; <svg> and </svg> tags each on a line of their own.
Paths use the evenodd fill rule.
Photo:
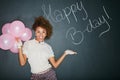
<svg viewBox="0 0 120 80">
<path fill-rule="evenodd" d="M 25 25 L 21 21 L 13 21 L 10 25 L 10 32 L 15 37 L 20 37 L 25 30 Z"/>
</svg>

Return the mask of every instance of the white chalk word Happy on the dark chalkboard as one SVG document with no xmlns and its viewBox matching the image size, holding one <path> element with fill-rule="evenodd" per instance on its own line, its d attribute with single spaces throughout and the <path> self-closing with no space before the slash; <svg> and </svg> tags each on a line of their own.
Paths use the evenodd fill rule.
<svg viewBox="0 0 120 80">
<path fill-rule="evenodd" d="M 72 15 L 75 19 L 75 21 L 77 22 L 78 19 L 76 17 L 75 13 L 82 13 L 84 16 L 82 16 L 83 20 L 86 20 L 88 18 L 88 13 L 84 8 L 84 5 L 82 3 L 82 1 L 80 1 L 80 5 L 78 2 L 76 2 L 75 4 L 72 4 L 69 7 L 65 7 L 62 10 L 54 10 L 52 11 L 51 5 L 49 4 L 48 8 L 46 8 L 46 6 L 43 4 L 42 5 L 42 11 L 44 13 L 44 16 L 47 19 L 51 19 L 54 22 L 61 22 L 62 20 L 67 19 L 68 24 L 70 24 L 70 19 L 69 17 Z M 53 13 L 52 13 L 53 12 Z M 55 17 L 55 18 L 54 18 Z"/>
</svg>

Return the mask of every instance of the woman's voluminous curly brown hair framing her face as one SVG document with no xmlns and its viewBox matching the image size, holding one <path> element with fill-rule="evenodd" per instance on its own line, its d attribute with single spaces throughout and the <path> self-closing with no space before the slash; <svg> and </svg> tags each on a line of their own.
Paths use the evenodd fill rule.
<svg viewBox="0 0 120 80">
<path fill-rule="evenodd" d="M 43 16 L 40 16 L 40 17 L 35 19 L 35 22 L 33 23 L 32 29 L 34 31 L 36 31 L 37 27 L 42 27 L 42 28 L 46 29 L 47 36 L 45 37 L 45 39 L 49 39 L 52 36 L 52 33 L 53 33 L 52 25 Z"/>
</svg>

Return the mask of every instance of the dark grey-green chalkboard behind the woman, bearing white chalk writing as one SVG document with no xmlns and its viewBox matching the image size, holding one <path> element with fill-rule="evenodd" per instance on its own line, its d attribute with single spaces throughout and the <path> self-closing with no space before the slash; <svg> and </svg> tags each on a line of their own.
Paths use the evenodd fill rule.
<svg viewBox="0 0 120 80">
<path fill-rule="evenodd" d="M 0 35 L 5 23 L 21 20 L 31 28 L 36 17 L 44 16 L 53 26 L 46 42 L 56 58 L 66 49 L 78 53 L 56 69 L 58 80 L 120 79 L 119 8 L 115 0 L 1 0 Z M 1 80 L 30 80 L 30 75 L 18 54 L 0 49 Z"/>
</svg>

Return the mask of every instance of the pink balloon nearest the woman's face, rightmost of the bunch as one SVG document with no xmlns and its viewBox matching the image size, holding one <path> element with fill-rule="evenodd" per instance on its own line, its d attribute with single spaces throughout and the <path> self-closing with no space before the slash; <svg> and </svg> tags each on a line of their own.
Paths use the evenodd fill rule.
<svg viewBox="0 0 120 80">
<path fill-rule="evenodd" d="M 21 35 L 22 41 L 28 41 L 32 37 L 32 31 L 29 28 L 25 28 L 25 32 Z"/>
</svg>

